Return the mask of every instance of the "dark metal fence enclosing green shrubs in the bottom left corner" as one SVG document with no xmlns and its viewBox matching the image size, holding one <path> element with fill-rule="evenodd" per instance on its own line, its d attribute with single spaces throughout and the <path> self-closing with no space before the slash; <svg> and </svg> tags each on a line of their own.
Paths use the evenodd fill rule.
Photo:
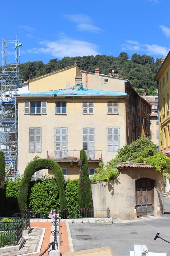
<svg viewBox="0 0 170 256">
<path fill-rule="evenodd" d="M 0 219 L 0 247 L 17 245 L 23 237 L 23 223 L 18 219 Z"/>
</svg>

